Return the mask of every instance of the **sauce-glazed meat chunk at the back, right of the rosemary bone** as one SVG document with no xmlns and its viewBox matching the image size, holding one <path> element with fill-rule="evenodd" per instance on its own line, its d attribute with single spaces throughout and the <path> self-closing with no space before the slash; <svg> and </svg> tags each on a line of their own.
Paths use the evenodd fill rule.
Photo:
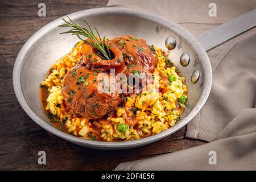
<svg viewBox="0 0 256 182">
<path fill-rule="evenodd" d="M 146 40 L 137 39 L 132 35 L 118 36 L 111 40 L 118 47 L 127 66 L 125 73 L 153 73 L 156 67 L 154 48 L 148 46 Z"/>
</svg>

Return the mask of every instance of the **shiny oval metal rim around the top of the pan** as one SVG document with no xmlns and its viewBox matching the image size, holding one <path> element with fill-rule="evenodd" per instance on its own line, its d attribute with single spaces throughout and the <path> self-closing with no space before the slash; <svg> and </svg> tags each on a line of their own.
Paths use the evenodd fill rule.
<svg viewBox="0 0 256 182">
<path fill-rule="evenodd" d="M 204 81 L 207 80 L 207 82 L 204 82 L 203 94 L 201 95 L 199 101 L 197 101 L 195 107 L 188 114 L 188 116 L 181 119 L 179 123 L 172 127 L 172 130 L 168 129 L 166 131 L 163 131 L 162 133 L 155 134 L 150 137 L 122 142 L 101 142 L 75 137 L 70 134 L 66 134 L 63 131 L 55 129 L 55 127 L 49 125 L 43 119 L 38 117 L 38 115 L 34 113 L 34 111 L 28 105 L 25 97 L 23 96 L 22 87 L 20 85 L 20 73 L 22 70 L 22 63 L 26 56 L 26 53 L 30 50 L 31 46 L 43 35 L 47 34 L 53 28 L 56 28 L 58 25 L 63 23 L 61 18 L 64 18 L 64 16 L 56 20 L 53 20 L 52 22 L 46 24 L 46 26 L 36 31 L 35 34 L 32 35 L 24 44 L 24 46 L 20 49 L 18 56 L 16 57 L 13 69 L 13 86 L 16 98 L 18 99 L 20 106 L 22 106 L 22 109 L 34 122 L 36 122 L 39 126 L 43 127 L 43 129 L 56 135 L 57 137 L 63 138 L 65 140 L 68 140 L 69 142 L 76 143 L 81 146 L 106 150 L 126 149 L 143 146 L 155 142 L 156 140 L 167 137 L 168 135 L 175 133 L 177 130 L 180 130 L 182 127 L 187 125 L 191 121 L 191 119 L 195 117 L 197 113 L 199 113 L 200 109 L 207 101 L 212 86 L 212 68 L 210 65 L 208 55 L 204 50 L 203 46 L 201 46 L 201 44 L 195 39 L 195 37 L 191 33 L 189 33 L 187 30 L 185 30 L 185 28 L 181 27 L 179 24 L 172 22 L 172 20 L 170 19 L 166 19 L 162 16 L 148 13 L 146 11 L 126 9 L 122 7 L 102 7 L 97 9 L 77 11 L 75 13 L 68 14 L 68 16 L 72 19 L 77 19 L 80 16 L 93 16 L 100 14 L 125 14 L 131 16 L 136 15 L 140 18 L 148 19 L 157 22 L 158 24 L 163 24 L 165 27 L 170 28 L 172 31 L 176 32 L 176 34 L 182 36 L 191 45 L 191 47 L 195 49 L 197 55 L 199 55 L 202 61 L 202 64 L 204 64 L 204 67 L 207 69 L 207 72 L 204 72 Z"/>
</svg>

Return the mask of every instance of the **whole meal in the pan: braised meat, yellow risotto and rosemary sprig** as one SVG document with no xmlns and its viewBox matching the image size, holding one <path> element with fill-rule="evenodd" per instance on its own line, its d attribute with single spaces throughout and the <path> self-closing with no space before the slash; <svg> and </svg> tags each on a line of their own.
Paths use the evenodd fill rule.
<svg viewBox="0 0 256 182">
<path fill-rule="evenodd" d="M 132 35 L 101 38 L 97 29 L 96 36 L 89 25 L 82 28 L 69 20 L 61 27 L 72 29 L 64 33 L 81 40 L 55 61 L 40 85 L 40 100 L 53 125 L 108 142 L 140 139 L 174 126 L 188 88 L 167 53 Z M 149 84 L 143 84 L 145 79 Z"/>
</svg>

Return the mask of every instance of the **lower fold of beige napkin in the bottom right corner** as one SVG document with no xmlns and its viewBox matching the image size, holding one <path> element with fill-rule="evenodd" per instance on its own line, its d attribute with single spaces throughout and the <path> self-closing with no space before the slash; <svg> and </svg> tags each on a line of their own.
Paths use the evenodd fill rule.
<svg viewBox="0 0 256 182">
<path fill-rule="evenodd" d="M 242 110 L 217 139 L 186 150 L 121 163 L 115 170 L 256 169 L 256 109 Z"/>
</svg>

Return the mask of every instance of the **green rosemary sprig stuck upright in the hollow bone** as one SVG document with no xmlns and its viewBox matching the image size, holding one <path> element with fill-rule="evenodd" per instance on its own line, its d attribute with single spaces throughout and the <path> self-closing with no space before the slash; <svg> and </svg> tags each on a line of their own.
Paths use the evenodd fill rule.
<svg viewBox="0 0 256 182">
<path fill-rule="evenodd" d="M 68 17 L 68 19 L 70 20 L 70 23 L 63 18 L 63 21 L 66 24 L 61 24 L 59 27 L 72 27 L 72 29 L 69 31 L 66 31 L 66 32 L 61 32 L 60 34 L 76 35 L 80 40 L 83 40 L 84 42 L 91 44 L 93 47 L 97 48 L 98 51 L 100 51 L 102 53 L 102 55 L 98 55 L 98 54 L 97 55 L 100 56 L 102 59 L 105 59 L 105 60 L 112 59 L 111 53 L 109 51 L 109 46 L 106 44 L 106 38 L 104 36 L 103 40 L 101 39 L 101 36 L 100 36 L 97 28 L 94 27 L 97 32 L 99 40 L 97 39 L 96 35 L 94 35 L 92 28 L 90 28 L 89 24 L 85 20 L 80 19 L 82 22 L 85 22 L 87 24 L 89 30 L 87 28 L 81 27 L 79 24 L 74 22 L 69 17 Z M 81 38 L 81 36 L 90 38 L 93 40 L 93 42 L 83 39 L 83 38 Z"/>
</svg>

